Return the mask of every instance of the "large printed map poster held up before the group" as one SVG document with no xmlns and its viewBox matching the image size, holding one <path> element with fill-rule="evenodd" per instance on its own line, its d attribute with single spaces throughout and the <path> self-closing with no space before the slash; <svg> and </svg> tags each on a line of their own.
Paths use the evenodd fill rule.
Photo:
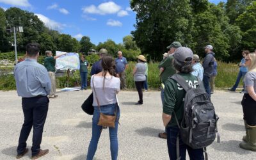
<svg viewBox="0 0 256 160">
<path fill-rule="evenodd" d="M 56 56 L 66 52 L 56 51 Z M 56 69 L 67 70 L 68 68 L 73 70 L 79 70 L 80 60 L 79 54 L 75 52 L 68 52 L 66 55 L 56 59 Z"/>
</svg>

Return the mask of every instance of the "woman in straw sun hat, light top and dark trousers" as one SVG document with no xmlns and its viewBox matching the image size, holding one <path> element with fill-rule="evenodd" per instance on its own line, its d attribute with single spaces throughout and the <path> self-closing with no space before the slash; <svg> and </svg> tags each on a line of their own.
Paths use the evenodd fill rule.
<svg viewBox="0 0 256 160">
<path fill-rule="evenodd" d="M 132 70 L 133 79 L 135 82 L 136 89 L 139 94 L 139 101 L 136 103 L 136 105 L 143 104 L 143 92 L 142 88 L 144 86 L 144 83 L 146 81 L 146 65 L 145 62 L 147 61 L 146 58 L 143 55 L 140 55 L 137 57 L 138 63 Z"/>
</svg>

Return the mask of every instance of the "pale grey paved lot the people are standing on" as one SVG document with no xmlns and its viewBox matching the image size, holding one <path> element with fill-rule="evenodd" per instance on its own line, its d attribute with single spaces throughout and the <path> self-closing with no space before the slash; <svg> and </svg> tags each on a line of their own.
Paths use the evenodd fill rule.
<svg viewBox="0 0 256 160">
<path fill-rule="evenodd" d="M 81 104 L 89 94 L 90 90 L 61 92 L 57 99 L 51 99 L 41 145 L 42 149 L 49 148 L 50 152 L 41 159 L 86 159 L 92 134 L 92 116 L 83 113 Z M 168 159 L 166 140 L 157 137 L 164 129 L 160 92 L 150 91 L 143 93 L 143 96 L 143 106 L 135 106 L 137 92 L 118 94 L 121 109 L 118 159 Z M 221 143 L 215 141 L 207 147 L 209 159 L 256 159 L 256 152 L 239 148 L 244 135 L 242 96 L 223 91 L 212 95 L 216 113 L 220 116 L 218 129 Z M 15 91 L 0 92 L 0 97 L 0 159 L 15 159 L 23 121 L 21 99 Z M 30 157 L 29 150 L 22 159 Z M 95 159 L 111 159 L 108 130 L 102 131 Z"/>
</svg>

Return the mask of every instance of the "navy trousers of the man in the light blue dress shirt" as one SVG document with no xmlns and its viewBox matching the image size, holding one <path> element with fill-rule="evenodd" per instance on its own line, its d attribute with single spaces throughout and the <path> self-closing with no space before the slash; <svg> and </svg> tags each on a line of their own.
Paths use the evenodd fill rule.
<svg viewBox="0 0 256 160">
<path fill-rule="evenodd" d="M 27 147 L 29 133 L 33 127 L 32 156 L 40 151 L 40 144 L 44 131 L 44 124 L 48 112 L 49 99 L 47 96 L 22 98 L 22 109 L 24 113 L 24 124 L 20 131 L 17 153 L 21 154 Z"/>
</svg>

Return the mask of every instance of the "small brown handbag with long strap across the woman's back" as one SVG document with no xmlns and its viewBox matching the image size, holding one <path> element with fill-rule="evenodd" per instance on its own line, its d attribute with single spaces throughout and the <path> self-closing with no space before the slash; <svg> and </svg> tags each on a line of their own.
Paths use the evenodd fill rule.
<svg viewBox="0 0 256 160">
<path fill-rule="evenodd" d="M 94 78 L 94 76 L 93 76 L 93 78 Z M 99 100 L 97 98 L 97 94 L 96 94 L 96 91 L 95 91 L 95 88 L 94 88 L 93 78 L 92 78 L 93 90 L 94 90 L 95 97 L 96 97 L 97 104 L 98 104 L 99 111 L 100 111 L 100 104 L 99 104 Z M 117 111 L 117 106 L 116 106 L 116 111 Z M 99 117 L 98 125 L 100 125 L 102 127 L 113 127 L 113 128 L 115 128 L 116 111 L 114 113 L 115 115 L 105 115 L 104 113 L 101 113 L 101 111 L 100 111 L 100 117 Z"/>
</svg>

